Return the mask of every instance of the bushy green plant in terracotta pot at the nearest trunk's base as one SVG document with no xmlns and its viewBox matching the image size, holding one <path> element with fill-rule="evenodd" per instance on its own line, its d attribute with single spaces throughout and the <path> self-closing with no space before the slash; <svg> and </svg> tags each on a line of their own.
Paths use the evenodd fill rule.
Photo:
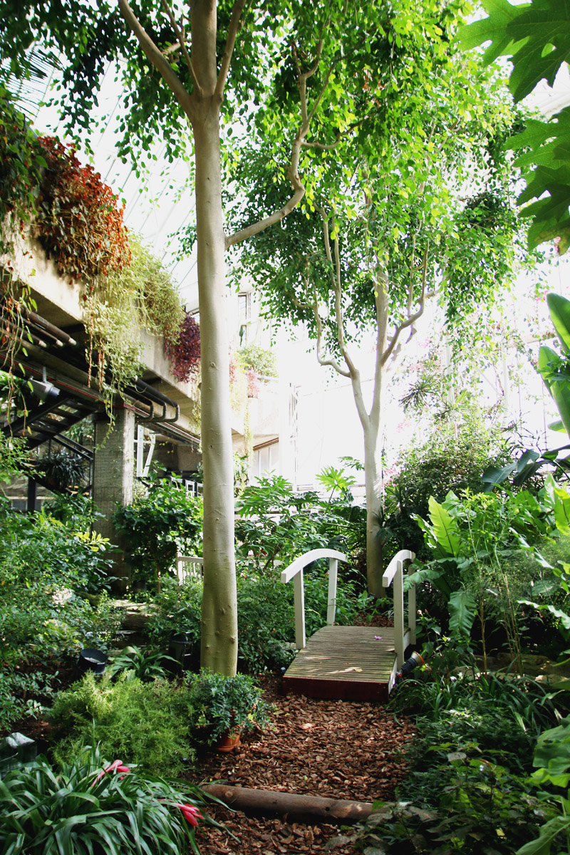
<svg viewBox="0 0 570 855">
<path fill-rule="evenodd" d="M 224 734 L 263 728 L 269 723 L 269 708 L 253 677 L 227 677 L 202 669 L 199 674 L 188 674 L 186 684 L 197 716 L 192 736 L 198 744 L 214 745 Z"/>
</svg>

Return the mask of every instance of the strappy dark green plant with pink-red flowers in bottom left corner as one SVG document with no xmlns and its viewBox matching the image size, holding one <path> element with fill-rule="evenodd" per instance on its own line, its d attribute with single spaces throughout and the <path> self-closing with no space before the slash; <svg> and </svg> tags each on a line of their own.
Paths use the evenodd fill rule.
<svg viewBox="0 0 570 855">
<path fill-rule="evenodd" d="M 97 748 L 59 770 L 40 757 L 0 781 L 0 846 L 4 855 L 198 853 L 204 801 L 199 787 L 110 763 Z"/>
</svg>

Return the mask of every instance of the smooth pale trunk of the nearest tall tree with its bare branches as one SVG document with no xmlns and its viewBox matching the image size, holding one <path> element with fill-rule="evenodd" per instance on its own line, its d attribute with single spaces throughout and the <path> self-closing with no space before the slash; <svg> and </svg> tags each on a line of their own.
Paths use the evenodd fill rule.
<svg viewBox="0 0 570 855">
<path fill-rule="evenodd" d="M 215 0 L 193 0 L 191 4 L 191 53 L 172 9 L 166 2 L 162 5 L 190 70 L 193 83 L 191 92 L 182 85 L 167 58 L 152 42 L 126 0 L 119 0 L 126 27 L 134 32 L 145 56 L 162 74 L 163 80 L 184 109 L 194 141 L 202 364 L 204 563 L 201 664 L 221 674 L 234 675 L 238 660 L 238 610 L 234 557 L 230 341 L 224 299 L 224 253 L 227 247 L 282 220 L 303 198 L 304 186 L 298 175 L 298 163 L 311 118 L 307 109 L 307 80 L 319 66 L 320 49 L 317 49 L 314 66 L 309 72 L 301 74 L 298 69 L 301 118 L 292 144 L 288 170 L 291 198 L 272 215 L 226 236 L 221 198 L 220 106 L 245 3 L 244 0 L 237 0 L 233 6 L 226 50 L 219 70 L 216 65 Z"/>
</svg>

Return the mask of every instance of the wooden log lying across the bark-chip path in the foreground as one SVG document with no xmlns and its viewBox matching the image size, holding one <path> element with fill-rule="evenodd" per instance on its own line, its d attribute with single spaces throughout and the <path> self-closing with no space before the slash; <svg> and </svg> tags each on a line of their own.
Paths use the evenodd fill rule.
<svg viewBox="0 0 570 855">
<path fill-rule="evenodd" d="M 324 799 L 321 796 L 281 793 L 275 790 L 254 790 L 249 787 L 229 787 L 225 784 L 205 784 L 203 790 L 236 811 L 250 816 L 284 815 L 301 823 L 358 823 L 372 813 L 372 804 L 345 799 Z"/>
</svg>

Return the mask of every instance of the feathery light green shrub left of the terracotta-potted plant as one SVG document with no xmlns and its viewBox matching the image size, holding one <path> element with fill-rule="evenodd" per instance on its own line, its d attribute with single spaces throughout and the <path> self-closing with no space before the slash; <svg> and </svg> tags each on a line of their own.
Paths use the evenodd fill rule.
<svg viewBox="0 0 570 855">
<path fill-rule="evenodd" d="M 193 759 L 194 717 L 184 687 L 129 679 L 128 672 L 116 682 L 88 673 L 56 698 L 50 719 L 58 734 L 68 735 L 53 754 L 65 764 L 85 746 L 99 744 L 105 757 L 128 757 L 153 775 L 176 777 Z"/>
</svg>

